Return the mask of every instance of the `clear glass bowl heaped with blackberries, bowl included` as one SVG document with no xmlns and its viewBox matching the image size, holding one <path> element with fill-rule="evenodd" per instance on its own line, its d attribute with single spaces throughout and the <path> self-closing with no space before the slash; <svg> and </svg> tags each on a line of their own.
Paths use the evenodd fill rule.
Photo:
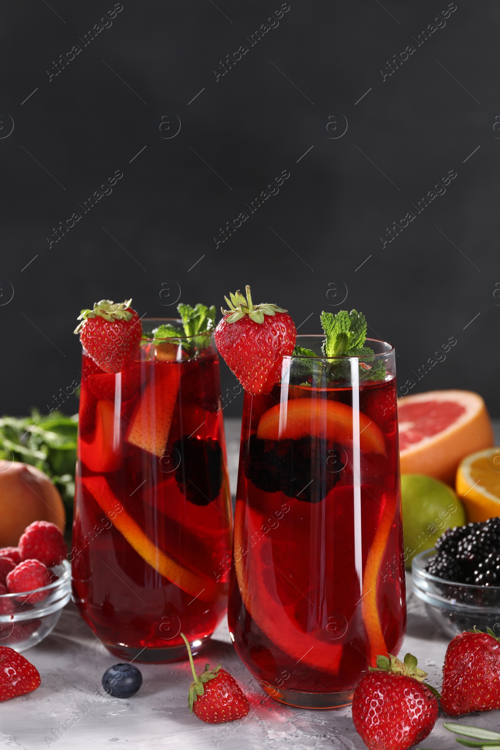
<svg viewBox="0 0 500 750">
<path fill-rule="evenodd" d="M 412 562 L 413 592 L 454 637 L 474 627 L 500 635 L 500 518 L 447 529 Z"/>
</svg>

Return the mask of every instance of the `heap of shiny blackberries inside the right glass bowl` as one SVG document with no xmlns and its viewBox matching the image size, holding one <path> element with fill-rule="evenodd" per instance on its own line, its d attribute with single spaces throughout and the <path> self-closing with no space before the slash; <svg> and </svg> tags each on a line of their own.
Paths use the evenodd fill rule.
<svg viewBox="0 0 500 750">
<path fill-rule="evenodd" d="M 457 583 L 500 586 L 500 518 L 447 529 L 427 571 Z"/>
</svg>

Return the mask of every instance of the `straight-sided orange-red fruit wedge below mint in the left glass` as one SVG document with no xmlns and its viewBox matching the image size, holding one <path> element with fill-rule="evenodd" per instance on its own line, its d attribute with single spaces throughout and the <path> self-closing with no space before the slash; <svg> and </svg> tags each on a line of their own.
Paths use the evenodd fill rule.
<svg viewBox="0 0 500 750">
<path fill-rule="evenodd" d="M 142 392 L 127 442 L 155 456 L 163 456 L 174 416 L 181 374 L 178 365 L 151 366 L 151 376 Z"/>
</svg>

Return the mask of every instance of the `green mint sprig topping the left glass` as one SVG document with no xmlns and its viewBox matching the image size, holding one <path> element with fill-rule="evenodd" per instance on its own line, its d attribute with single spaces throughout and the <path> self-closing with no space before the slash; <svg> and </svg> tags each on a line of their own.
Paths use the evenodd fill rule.
<svg viewBox="0 0 500 750">
<path fill-rule="evenodd" d="M 171 344 L 181 344 L 185 352 L 196 356 L 210 343 L 210 337 L 206 334 L 215 328 L 215 305 L 208 308 L 199 302 L 192 308 L 181 302 L 177 310 L 182 328 L 173 322 L 163 323 L 152 332 L 154 343 L 163 344 L 163 340 L 168 338 Z M 189 338 L 186 340 L 184 337 Z M 151 334 L 143 334 L 142 338 L 151 338 Z"/>
</svg>

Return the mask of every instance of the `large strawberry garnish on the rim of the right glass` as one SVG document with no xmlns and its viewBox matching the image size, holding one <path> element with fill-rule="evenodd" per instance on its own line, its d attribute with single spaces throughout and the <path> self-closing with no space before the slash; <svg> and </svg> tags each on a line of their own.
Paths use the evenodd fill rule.
<svg viewBox="0 0 500 750">
<path fill-rule="evenodd" d="M 215 344 L 226 365 L 252 394 L 271 393 L 280 382 L 284 356 L 291 356 L 297 331 L 292 318 L 277 305 L 253 305 L 240 291 L 227 297 L 229 310 L 215 329 Z"/>
</svg>

